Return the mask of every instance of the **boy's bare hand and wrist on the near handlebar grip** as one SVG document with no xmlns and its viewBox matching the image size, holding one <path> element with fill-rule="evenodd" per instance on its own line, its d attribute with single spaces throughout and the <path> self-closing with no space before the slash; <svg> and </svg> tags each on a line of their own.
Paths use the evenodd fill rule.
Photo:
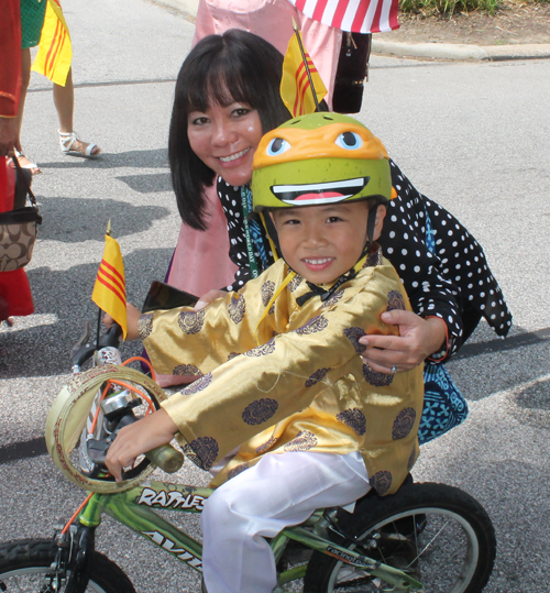
<svg viewBox="0 0 550 593">
<path fill-rule="evenodd" d="M 106 463 L 109 472 L 117 482 L 121 482 L 124 468 L 132 466 L 139 455 L 168 443 L 176 432 L 177 426 L 162 408 L 133 425 L 121 428 L 107 451 Z"/>
</svg>

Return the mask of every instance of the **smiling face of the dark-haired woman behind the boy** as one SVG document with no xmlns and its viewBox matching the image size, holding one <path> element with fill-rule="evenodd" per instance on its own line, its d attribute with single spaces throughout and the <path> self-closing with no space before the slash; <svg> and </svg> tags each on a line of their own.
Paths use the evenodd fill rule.
<svg viewBox="0 0 550 593">
<path fill-rule="evenodd" d="M 263 135 L 260 114 L 245 103 L 211 103 L 187 114 L 187 136 L 193 152 L 228 184 L 252 179 L 252 160 Z"/>
</svg>

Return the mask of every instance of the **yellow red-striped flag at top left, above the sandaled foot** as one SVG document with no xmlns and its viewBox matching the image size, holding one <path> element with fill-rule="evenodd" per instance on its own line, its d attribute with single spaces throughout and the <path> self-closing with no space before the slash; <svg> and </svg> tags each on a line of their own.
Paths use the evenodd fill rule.
<svg viewBox="0 0 550 593">
<path fill-rule="evenodd" d="M 38 53 L 32 69 L 52 83 L 65 86 L 73 58 L 73 46 L 67 23 L 58 0 L 47 0 L 46 15 L 40 37 Z"/>
</svg>

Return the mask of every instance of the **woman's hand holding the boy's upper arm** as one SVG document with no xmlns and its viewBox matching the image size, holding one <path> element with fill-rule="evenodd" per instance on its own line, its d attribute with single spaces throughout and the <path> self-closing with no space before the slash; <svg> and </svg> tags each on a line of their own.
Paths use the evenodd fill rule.
<svg viewBox="0 0 550 593">
<path fill-rule="evenodd" d="M 413 311 L 394 309 L 383 312 L 382 320 L 399 326 L 399 336 L 363 336 L 359 340 L 366 345 L 361 354 L 363 362 L 377 373 L 414 369 L 440 350 L 447 338 L 447 326 L 437 317 L 424 319 Z"/>
</svg>

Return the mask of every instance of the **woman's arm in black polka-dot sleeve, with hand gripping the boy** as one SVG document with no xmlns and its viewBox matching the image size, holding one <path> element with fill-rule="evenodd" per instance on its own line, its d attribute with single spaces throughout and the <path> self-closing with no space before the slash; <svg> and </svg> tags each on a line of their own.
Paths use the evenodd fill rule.
<svg viewBox="0 0 550 593">
<path fill-rule="evenodd" d="M 427 358 L 442 362 L 458 350 L 463 336 L 462 299 L 454 283 L 458 273 L 450 272 L 457 262 L 449 262 L 452 249 L 446 253 L 447 242 L 453 243 L 460 237 L 450 240 L 430 233 L 426 198 L 391 164 L 397 198 L 388 207 L 380 243 L 399 274 L 415 312 L 384 314 L 388 322 L 399 326 L 399 337 L 388 340 L 365 336 L 360 340 L 367 347 L 364 362 L 385 373 L 394 367 L 409 370 Z"/>
</svg>

